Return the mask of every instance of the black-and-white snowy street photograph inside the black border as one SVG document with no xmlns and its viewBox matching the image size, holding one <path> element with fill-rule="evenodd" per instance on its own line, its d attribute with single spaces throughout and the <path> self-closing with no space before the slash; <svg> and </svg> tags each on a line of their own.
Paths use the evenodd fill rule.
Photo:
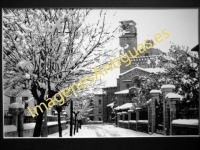
<svg viewBox="0 0 200 150">
<path fill-rule="evenodd" d="M 2 8 L 3 138 L 199 137 L 198 8 Z"/>
</svg>

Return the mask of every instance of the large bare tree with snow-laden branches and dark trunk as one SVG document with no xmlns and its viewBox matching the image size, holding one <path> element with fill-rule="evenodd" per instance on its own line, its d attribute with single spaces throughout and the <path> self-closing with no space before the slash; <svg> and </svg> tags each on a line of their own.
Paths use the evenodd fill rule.
<svg viewBox="0 0 200 150">
<path fill-rule="evenodd" d="M 91 65 L 114 50 L 103 49 L 118 31 L 105 24 L 100 11 L 96 23 L 89 23 L 91 10 L 3 9 L 4 89 L 22 88 L 32 92 L 37 104 L 45 103 L 69 82 L 92 73 Z M 91 21 L 91 20 L 89 20 Z M 100 59 L 101 57 L 101 59 Z M 44 105 L 41 106 L 45 110 Z M 39 137 L 43 112 L 38 116 L 34 137 Z"/>
</svg>

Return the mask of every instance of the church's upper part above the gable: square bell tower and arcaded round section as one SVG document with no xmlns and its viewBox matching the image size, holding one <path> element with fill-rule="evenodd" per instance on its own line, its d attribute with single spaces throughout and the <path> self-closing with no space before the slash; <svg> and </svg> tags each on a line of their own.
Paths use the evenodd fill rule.
<svg viewBox="0 0 200 150">
<path fill-rule="evenodd" d="M 139 55 L 137 56 L 135 52 L 138 50 L 137 28 L 135 27 L 136 23 L 132 20 L 121 21 L 120 23 L 121 23 L 121 28 L 123 30 L 122 35 L 119 37 L 119 44 L 122 47 L 122 50 L 120 51 L 120 55 L 123 53 L 126 53 L 131 60 L 131 64 L 129 66 L 125 66 L 126 65 L 125 63 L 121 64 L 120 74 L 134 67 L 154 68 L 154 67 L 161 67 L 162 65 L 165 64 L 163 61 L 164 58 L 162 58 L 162 61 L 160 60 L 162 51 L 157 48 L 154 48 L 153 40 L 148 40 L 148 43 L 151 43 L 153 45 L 152 48 L 147 49 L 146 44 L 141 43 L 146 47 L 146 49 L 143 53 L 138 52 Z M 133 56 L 137 56 L 137 57 L 132 58 L 129 51 L 131 52 Z"/>
</svg>

